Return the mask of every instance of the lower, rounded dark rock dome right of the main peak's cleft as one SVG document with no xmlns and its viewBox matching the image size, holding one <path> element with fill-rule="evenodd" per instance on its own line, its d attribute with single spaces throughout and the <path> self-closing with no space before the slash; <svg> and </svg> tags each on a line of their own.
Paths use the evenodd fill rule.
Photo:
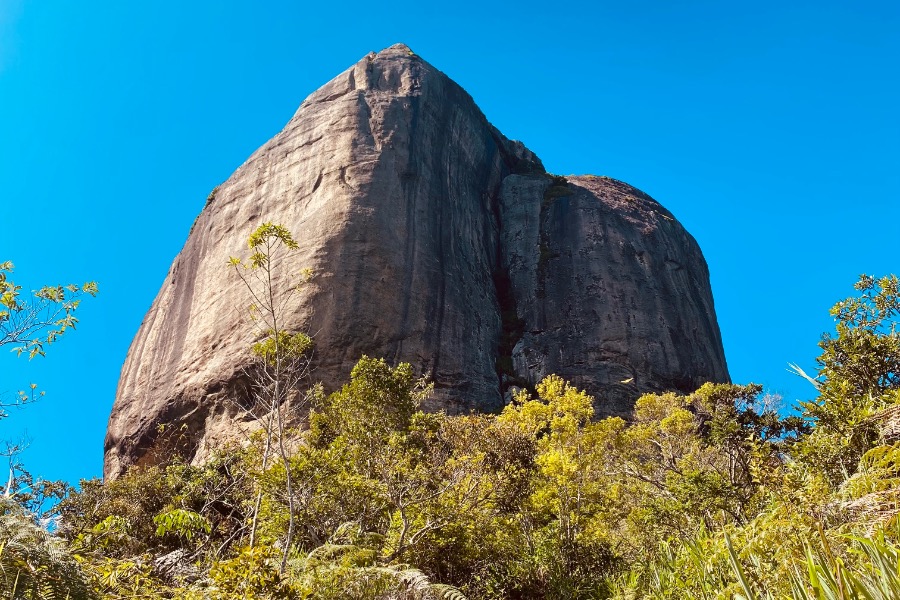
<svg viewBox="0 0 900 600">
<path fill-rule="evenodd" d="M 659 203 L 608 177 L 510 175 L 500 207 L 510 380 L 560 375 L 600 416 L 728 380 L 706 262 Z"/>
</svg>

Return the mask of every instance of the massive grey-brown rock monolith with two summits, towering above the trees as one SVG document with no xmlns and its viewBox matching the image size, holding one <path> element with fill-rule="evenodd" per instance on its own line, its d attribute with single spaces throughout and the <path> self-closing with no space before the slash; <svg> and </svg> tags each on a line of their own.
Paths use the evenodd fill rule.
<svg viewBox="0 0 900 600">
<path fill-rule="evenodd" d="M 300 244 L 279 293 L 316 274 L 284 322 L 314 335 L 327 389 L 363 354 L 412 363 L 435 382 L 426 408 L 450 412 L 497 410 L 549 373 L 601 414 L 728 380 L 706 263 L 671 214 L 611 179 L 554 183 L 398 44 L 307 98 L 210 196 L 122 368 L 107 477 L 202 457 L 245 423 L 251 301 L 227 258 L 264 221 Z"/>
</svg>

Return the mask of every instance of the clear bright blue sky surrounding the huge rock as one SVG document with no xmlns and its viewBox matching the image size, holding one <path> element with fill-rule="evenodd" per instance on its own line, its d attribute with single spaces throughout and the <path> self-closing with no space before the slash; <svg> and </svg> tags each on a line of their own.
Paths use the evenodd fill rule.
<svg viewBox="0 0 900 600">
<path fill-rule="evenodd" d="M 859 273 L 900 272 L 900 4 L 432 6 L 0 0 L 0 261 L 101 290 L 46 358 L 0 355 L 0 391 L 47 392 L 0 423 L 33 472 L 100 474 L 128 345 L 208 192 L 395 42 L 550 171 L 662 202 L 709 262 L 734 380 L 810 396 L 787 363 L 814 370 Z"/>
</svg>

